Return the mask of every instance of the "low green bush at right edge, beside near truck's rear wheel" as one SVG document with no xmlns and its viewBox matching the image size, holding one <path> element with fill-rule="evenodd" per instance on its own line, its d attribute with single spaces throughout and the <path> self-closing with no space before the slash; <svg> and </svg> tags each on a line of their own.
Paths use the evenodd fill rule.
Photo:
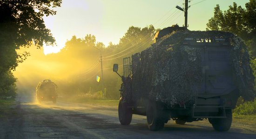
<svg viewBox="0 0 256 139">
<path fill-rule="evenodd" d="M 256 114 L 256 99 L 240 104 L 233 111 L 235 114 L 255 115 Z"/>
</svg>

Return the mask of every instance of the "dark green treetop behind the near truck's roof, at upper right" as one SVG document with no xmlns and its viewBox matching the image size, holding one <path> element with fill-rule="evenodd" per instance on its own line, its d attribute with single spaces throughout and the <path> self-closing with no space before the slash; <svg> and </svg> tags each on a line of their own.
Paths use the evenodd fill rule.
<svg viewBox="0 0 256 139">
<path fill-rule="evenodd" d="M 235 33 L 246 41 L 251 56 L 256 57 L 256 0 L 249 0 L 245 7 L 243 9 L 234 2 L 233 6 L 222 12 L 220 6 L 216 5 L 206 30 Z"/>
</svg>

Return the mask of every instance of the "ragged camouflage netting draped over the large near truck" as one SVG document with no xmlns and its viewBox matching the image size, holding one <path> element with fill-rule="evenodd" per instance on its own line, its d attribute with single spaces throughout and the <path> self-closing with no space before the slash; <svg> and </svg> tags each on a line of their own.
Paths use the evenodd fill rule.
<svg viewBox="0 0 256 139">
<path fill-rule="evenodd" d="M 173 32 L 141 53 L 132 56 L 133 101 L 146 97 L 169 106 L 190 105 L 202 84 L 202 48 L 182 45 L 184 38 L 228 38 L 236 84 L 245 100 L 255 97 L 249 54 L 241 38 L 229 32 Z M 125 89 L 130 88 L 125 83 Z M 129 91 L 130 92 L 130 91 Z M 127 95 L 130 96 L 130 95 Z M 128 98 L 127 98 L 128 99 Z"/>
</svg>

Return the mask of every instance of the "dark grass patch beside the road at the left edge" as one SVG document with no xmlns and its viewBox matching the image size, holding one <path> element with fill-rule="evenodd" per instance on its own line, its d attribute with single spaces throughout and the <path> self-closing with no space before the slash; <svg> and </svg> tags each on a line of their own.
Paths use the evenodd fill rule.
<svg viewBox="0 0 256 139">
<path fill-rule="evenodd" d="M 16 114 L 13 105 L 15 105 L 14 98 L 8 100 L 0 99 L 0 118 L 5 118 L 8 115 Z"/>
</svg>

